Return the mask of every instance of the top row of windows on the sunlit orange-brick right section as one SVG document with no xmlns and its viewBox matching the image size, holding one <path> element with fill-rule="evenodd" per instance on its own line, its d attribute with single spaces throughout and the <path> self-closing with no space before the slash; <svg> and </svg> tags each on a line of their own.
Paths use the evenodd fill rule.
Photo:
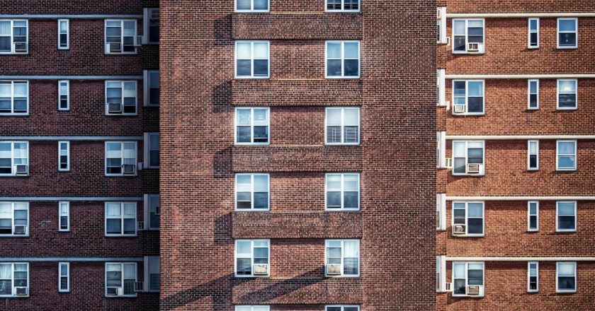
<svg viewBox="0 0 595 311">
<path fill-rule="evenodd" d="M 446 9 L 438 8 L 437 41 L 448 44 L 446 37 Z M 485 19 L 453 18 L 453 54 L 485 53 Z M 577 49 L 579 47 L 578 18 L 557 18 L 557 48 Z M 539 48 L 539 18 L 528 19 L 528 48 Z"/>
</svg>

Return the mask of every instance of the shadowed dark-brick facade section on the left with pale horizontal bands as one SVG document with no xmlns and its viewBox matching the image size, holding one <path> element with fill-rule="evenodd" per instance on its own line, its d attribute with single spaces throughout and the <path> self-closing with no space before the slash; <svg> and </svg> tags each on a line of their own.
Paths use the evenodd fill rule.
<svg viewBox="0 0 595 311">
<path fill-rule="evenodd" d="M 0 1 L 2 310 L 158 310 L 159 1 Z"/>
</svg>

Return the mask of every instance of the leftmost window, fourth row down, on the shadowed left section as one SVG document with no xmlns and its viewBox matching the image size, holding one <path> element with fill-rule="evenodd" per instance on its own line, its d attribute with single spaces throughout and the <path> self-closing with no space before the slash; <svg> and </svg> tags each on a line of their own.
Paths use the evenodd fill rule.
<svg viewBox="0 0 595 311">
<path fill-rule="evenodd" d="M 0 202 L 0 237 L 29 235 L 29 204 Z"/>
</svg>

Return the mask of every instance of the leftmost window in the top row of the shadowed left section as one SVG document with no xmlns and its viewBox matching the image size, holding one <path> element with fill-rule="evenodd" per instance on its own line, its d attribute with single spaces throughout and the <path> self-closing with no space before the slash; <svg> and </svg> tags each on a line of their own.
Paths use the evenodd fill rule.
<svg viewBox="0 0 595 311">
<path fill-rule="evenodd" d="M 0 20 L 0 54 L 27 54 L 28 20 Z"/>
</svg>

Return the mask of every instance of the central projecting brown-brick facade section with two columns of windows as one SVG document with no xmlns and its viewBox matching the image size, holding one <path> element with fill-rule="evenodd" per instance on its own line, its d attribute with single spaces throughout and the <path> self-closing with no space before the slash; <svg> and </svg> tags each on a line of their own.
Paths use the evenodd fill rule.
<svg viewBox="0 0 595 311">
<path fill-rule="evenodd" d="M 434 13 L 162 3 L 162 310 L 435 308 Z"/>
</svg>

